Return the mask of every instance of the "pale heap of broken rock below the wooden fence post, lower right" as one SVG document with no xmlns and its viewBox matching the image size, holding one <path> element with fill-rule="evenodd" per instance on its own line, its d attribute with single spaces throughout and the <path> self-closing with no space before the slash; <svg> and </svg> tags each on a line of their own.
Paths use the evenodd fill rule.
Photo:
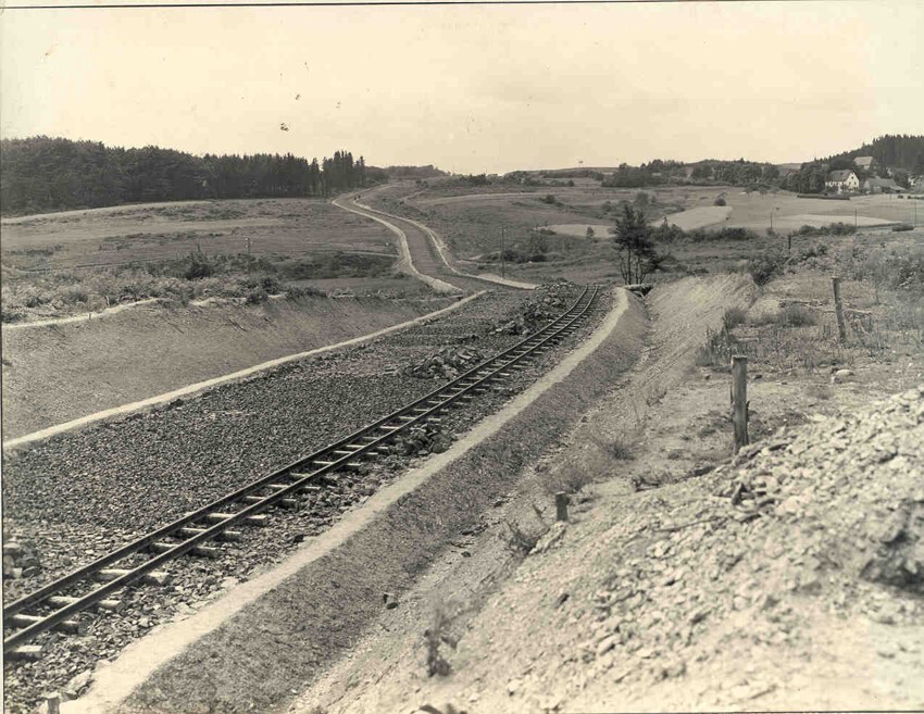
<svg viewBox="0 0 924 714">
<path fill-rule="evenodd" d="M 720 699 L 744 702 L 785 675 L 748 676 L 736 657 L 776 647 L 808 656 L 813 609 L 920 622 L 922 474 L 924 386 L 742 449 L 706 477 L 712 498 L 684 494 L 695 484 L 649 491 L 639 498 L 658 508 L 640 502 L 608 535 L 619 568 L 591 596 L 595 622 L 562 664 L 644 688 L 714 660 L 728 668 Z"/>
</svg>

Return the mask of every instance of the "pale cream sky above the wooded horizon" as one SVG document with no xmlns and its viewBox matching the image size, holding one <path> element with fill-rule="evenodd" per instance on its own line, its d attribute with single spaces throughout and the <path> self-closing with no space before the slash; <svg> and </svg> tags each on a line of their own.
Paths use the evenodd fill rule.
<svg viewBox="0 0 924 714">
<path fill-rule="evenodd" d="M 922 38 L 920 0 L 7 9 L 0 133 L 462 173 L 803 161 L 924 134 Z"/>
</svg>

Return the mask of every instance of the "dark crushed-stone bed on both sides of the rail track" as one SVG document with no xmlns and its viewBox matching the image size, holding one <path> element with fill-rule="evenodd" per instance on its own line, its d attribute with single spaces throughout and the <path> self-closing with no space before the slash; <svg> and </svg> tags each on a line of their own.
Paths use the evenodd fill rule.
<svg viewBox="0 0 924 714">
<path fill-rule="evenodd" d="M 566 306 L 578 292 L 576 286 L 559 286 L 529 296 L 490 293 L 451 318 L 369 347 L 285 365 L 12 454 L 4 464 L 4 531 L 8 539 L 34 549 L 40 567 L 29 577 L 4 579 L 5 597 L 32 591 L 432 391 L 445 379 L 421 378 L 407 367 L 426 362 L 447 346 L 500 351 L 522 339 L 517 330 L 542 324 L 537 302 Z M 562 310 L 555 304 L 548 312 Z M 592 324 L 584 329 L 590 328 Z M 166 568 L 175 578 L 172 586 L 130 588 L 123 597 L 127 613 L 90 616 L 87 637 L 47 636 L 41 660 L 7 667 L 8 707 L 27 711 L 42 690 L 65 686 L 149 628 L 277 561 L 392 479 L 408 459 L 446 448 L 452 433 L 496 409 L 553 364 L 558 352 L 485 394 L 477 409 L 452 413 L 444 419 L 442 435 L 427 435 L 425 443 L 412 444 L 403 458 L 389 458 L 365 476 L 345 479 L 320 494 L 312 508 L 273 511 L 271 527 L 248 530 L 242 543 L 223 544 L 217 561 L 185 559 Z"/>
</svg>

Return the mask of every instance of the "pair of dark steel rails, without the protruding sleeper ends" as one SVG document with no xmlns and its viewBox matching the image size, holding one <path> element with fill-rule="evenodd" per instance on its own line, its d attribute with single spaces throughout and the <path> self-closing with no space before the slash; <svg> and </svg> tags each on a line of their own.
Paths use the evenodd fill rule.
<svg viewBox="0 0 924 714">
<path fill-rule="evenodd" d="M 18 629 L 3 640 L 4 652 L 9 652 L 18 646 L 35 639 L 35 637 L 41 632 L 47 631 L 63 623 L 68 617 L 87 610 L 99 601 L 105 599 L 107 596 L 114 593 L 123 587 L 138 580 L 146 574 L 151 573 L 158 566 L 173 561 L 179 555 L 192 551 L 200 544 L 221 536 L 235 524 L 244 522 L 246 518 L 255 515 L 271 505 L 282 502 L 284 499 L 289 499 L 291 496 L 303 490 L 305 486 L 311 485 L 312 481 L 317 480 L 327 474 L 349 467 L 352 460 L 370 455 L 370 452 L 377 451 L 382 447 L 387 446 L 389 441 L 392 441 L 396 436 L 407 429 L 432 419 L 435 414 L 457 403 L 464 396 L 470 394 L 473 390 L 478 388 L 484 389 L 487 383 L 497 379 L 498 377 L 505 376 L 503 374 L 504 369 L 510 368 L 517 362 L 536 353 L 537 350 L 547 343 L 558 341 L 573 331 L 577 322 L 587 314 L 590 306 L 594 304 L 597 293 L 597 287 L 585 288 L 572 306 L 549 325 L 527 336 L 516 345 L 508 348 L 494 358 L 475 365 L 441 387 L 401 406 L 376 422 L 367 424 L 344 439 L 328 444 L 308 456 L 301 458 L 298 461 L 273 472 L 269 476 L 251 481 L 240 489 L 216 499 L 197 511 L 186 514 L 183 517 L 177 518 L 176 521 L 173 521 L 172 523 L 93 561 L 92 563 L 58 578 L 20 600 L 10 603 L 10 605 L 8 605 L 3 611 L 4 629 L 10 629 L 15 626 L 12 622 L 14 615 L 22 613 L 27 607 L 39 605 L 47 601 L 50 597 L 60 593 L 62 590 L 99 574 L 100 571 L 105 568 L 105 566 L 117 563 L 130 555 L 142 553 L 147 551 L 151 544 L 160 541 L 161 539 L 176 538 L 182 528 L 200 523 L 203 518 L 220 513 L 223 506 L 241 501 L 254 491 L 266 488 L 271 484 L 275 485 L 276 481 L 285 479 L 296 479 L 285 488 L 275 489 L 273 493 L 260 497 L 260 501 L 246 505 L 236 513 L 228 514 L 228 517 L 220 521 L 212 527 L 203 528 L 196 535 L 185 538 L 182 542 L 176 543 L 170 550 L 149 558 L 145 563 L 91 590 L 89 593 L 77 598 L 74 602 L 55 610 L 51 614 L 42 617 L 40 621 Z M 530 342 L 534 343 L 529 345 Z M 478 376 L 479 374 L 480 376 Z M 474 381 L 471 384 L 462 384 L 472 380 L 473 377 Z M 455 391 L 457 389 L 458 391 Z M 454 393 L 447 394 L 447 392 L 450 391 L 453 391 Z M 423 404 L 428 404 L 428 406 L 424 409 L 422 408 Z M 408 416 L 409 413 L 413 413 L 414 416 Z M 397 424 L 392 426 L 392 422 L 397 422 Z M 379 430 L 385 431 L 385 434 L 379 437 L 371 436 L 373 433 Z M 359 446 L 359 448 L 350 449 L 348 447 L 348 444 L 357 447 L 358 444 L 354 442 L 359 440 L 367 441 L 367 443 Z M 333 452 L 342 453 L 345 451 L 345 447 L 348 447 L 345 455 L 340 455 L 339 458 L 332 456 Z M 332 460 L 324 460 L 324 456 Z M 307 474 L 298 473 L 300 467 L 303 467 L 305 464 L 310 465 L 312 462 L 321 462 L 324 463 L 324 465 L 320 468 L 313 468 Z"/>
</svg>

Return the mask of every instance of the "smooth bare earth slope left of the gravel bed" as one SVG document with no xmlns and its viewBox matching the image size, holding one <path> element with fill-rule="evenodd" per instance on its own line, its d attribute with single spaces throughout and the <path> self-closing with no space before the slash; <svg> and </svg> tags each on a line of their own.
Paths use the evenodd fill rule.
<svg viewBox="0 0 924 714">
<path fill-rule="evenodd" d="M 255 306 L 141 305 L 83 323 L 4 329 L 3 437 L 373 333 L 451 302 L 310 297 Z"/>
</svg>

